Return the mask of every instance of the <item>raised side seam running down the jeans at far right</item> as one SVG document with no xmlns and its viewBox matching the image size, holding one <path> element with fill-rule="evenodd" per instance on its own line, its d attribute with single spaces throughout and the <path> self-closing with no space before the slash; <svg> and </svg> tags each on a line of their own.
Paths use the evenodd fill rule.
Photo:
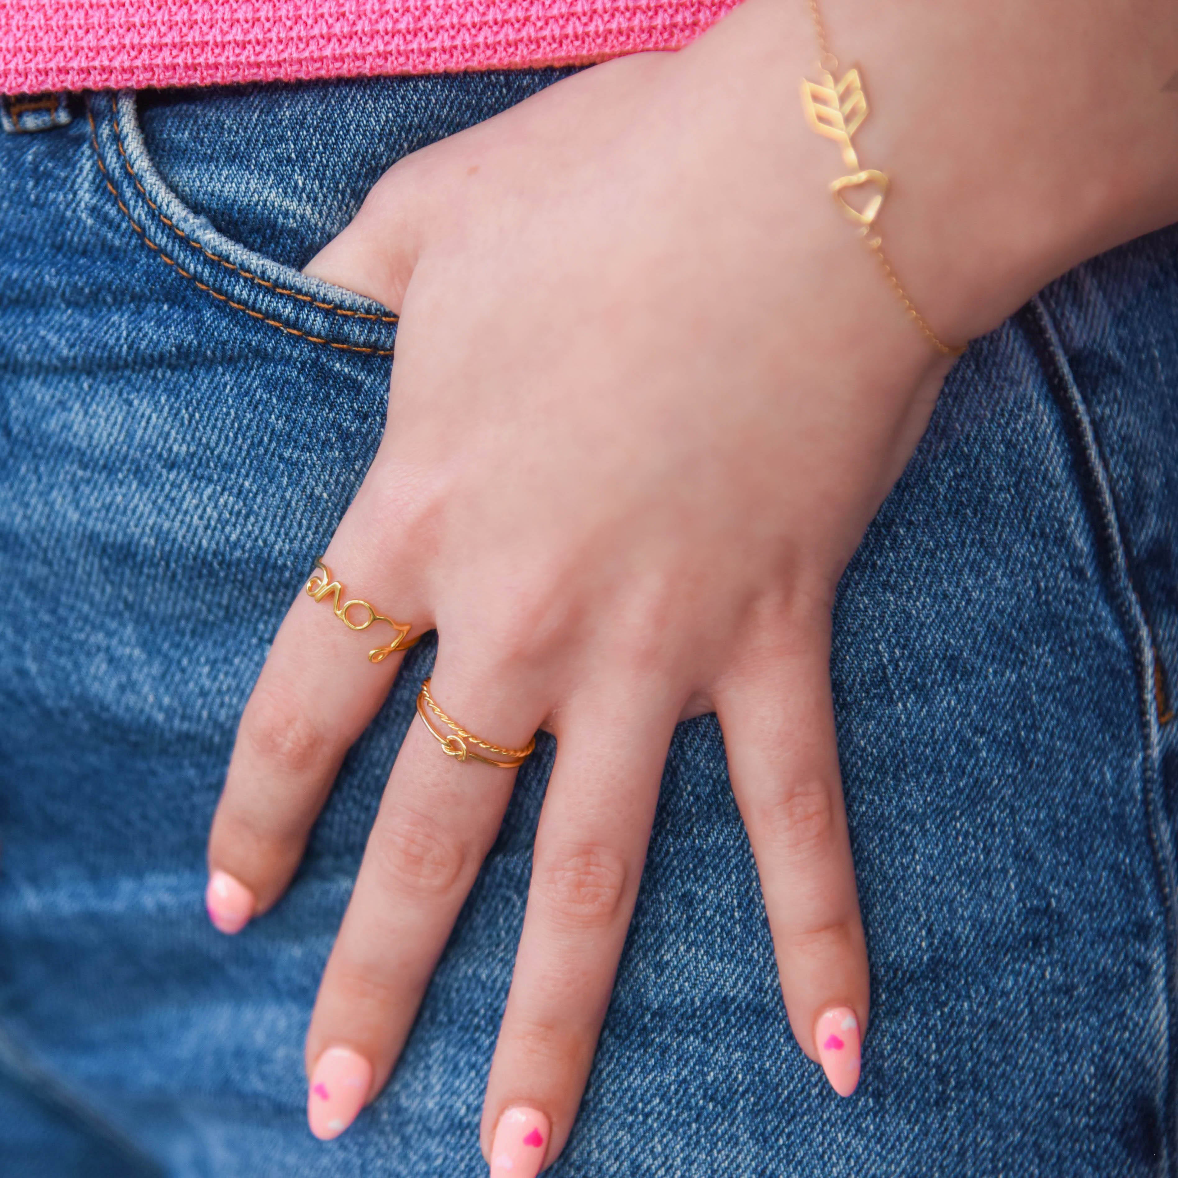
<svg viewBox="0 0 1178 1178">
<path fill-rule="evenodd" d="M 1162 799 L 1160 776 L 1160 720 L 1158 714 L 1158 696 L 1156 694 L 1157 653 L 1150 627 L 1145 618 L 1133 580 L 1130 573 L 1129 558 L 1121 534 L 1117 505 L 1112 494 L 1112 483 L 1092 418 L 1088 413 L 1084 395 L 1076 380 L 1071 365 L 1059 340 L 1051 312 L 1040 296 L 1027 305 L 1025 316 L 1031 320 L 1032 335 L 1039 339 L 1045 353 L 1045 368 L 1052 392 L 1060 411 L 1071 424 L 1073 442 L 1083 455 L 1084 497 L 1093 530 L 1100 547 L 1105 550 L 1107 562 L 1106 581 L 1113 597 L 1113 604 L 1120 614 L 1125 638 L 1132 651 L 1138 683 L 1138 716 L 1141 736 L 1141 799 L 1144 819 L 1150 851 L 1157 876 L 1157 886 L 1162 901 L 1166 929 L 1166 999 L 1167 999 L 1167 1067 L 1165 1081 L 1165 1119 L 1162 1126 L 1165 1141 L 1165 1160 L 1163 1163 L 1171 1178 L 1178 1178 L 1178 1154 L 1174 1149 L 1176 1137 L 1176 1092 L 1174 1086 L 1174 1051 L 1178 1039 L 1174 1035 L 1178 1020 L 1178 979 L 1176 979 L 1176 953 L 1178 953 L 1178 878 L 1174 872 L 1174 855 L 1169 828 L 1165 821 L 1165 808 Z"/>
</svg>

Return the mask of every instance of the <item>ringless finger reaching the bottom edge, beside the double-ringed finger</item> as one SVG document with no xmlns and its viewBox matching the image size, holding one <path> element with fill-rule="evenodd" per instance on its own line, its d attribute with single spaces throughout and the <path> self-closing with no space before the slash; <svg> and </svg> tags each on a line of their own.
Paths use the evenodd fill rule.
<svg viewBox="0 0 1178 1178">
<path fill-rule="evenodd" d="M 615 690 L 562 719 L 483 1106 L 492 1178 L 551 1164 L 581 1104 L 681 702 L 661 708 L 653 695 Z"/>
</svg>

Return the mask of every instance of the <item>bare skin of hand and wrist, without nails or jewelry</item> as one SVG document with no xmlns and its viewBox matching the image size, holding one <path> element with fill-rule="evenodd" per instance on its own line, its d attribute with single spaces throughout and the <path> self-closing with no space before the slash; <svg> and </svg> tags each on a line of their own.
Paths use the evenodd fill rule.
<svg viewBox="0 0 1178 1178">
<path fill-rule="evenodd" d="M 942 339 L 1178 219 L 1178 32 L 1163 0 L 830 0 L 863 66 L 879 225 Z M 571 1129 L 677 720 L 715 710 L 801 1050 L 867 955 L 828 671 L 835 585 L 951 360 L 823 191 L 803 4 L 748 0 L 690 48 L 596 66 L 398 163 L 307 266 L 402 316 L 389 429 L 326 552 L 439 634 L 432 690 L 558 754 L 488 1084 Z M 241 717 L 210 867 L 283 894 L 398 657 L 305 595 Z M 392 769 L 307 1035 L 386 1081 L 514 773 Z"/>
</svg>

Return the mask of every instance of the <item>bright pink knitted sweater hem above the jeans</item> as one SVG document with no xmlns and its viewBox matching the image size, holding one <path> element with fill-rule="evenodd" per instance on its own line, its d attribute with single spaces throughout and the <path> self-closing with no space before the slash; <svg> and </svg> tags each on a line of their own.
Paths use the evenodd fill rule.
<svg viewBox="0 0 1178 1178">
<path fill-rule="evenodd" d="M 0 0 L 0 93 L 601 61 L 739 0 Z"/>
</svg>

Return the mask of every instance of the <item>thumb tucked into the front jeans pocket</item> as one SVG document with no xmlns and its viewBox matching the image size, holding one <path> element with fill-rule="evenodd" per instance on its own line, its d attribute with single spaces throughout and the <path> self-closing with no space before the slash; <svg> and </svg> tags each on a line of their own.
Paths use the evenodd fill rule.
<svg viewBox="0 0 1178 1178">
<path fill-rule="evenodd" d="M 401 315 L 421 251 L 419 183 L 406 157 L 364 198 L 359 212 L 304 267 L 303 273 L 365 294 Z"/>
</svg>

